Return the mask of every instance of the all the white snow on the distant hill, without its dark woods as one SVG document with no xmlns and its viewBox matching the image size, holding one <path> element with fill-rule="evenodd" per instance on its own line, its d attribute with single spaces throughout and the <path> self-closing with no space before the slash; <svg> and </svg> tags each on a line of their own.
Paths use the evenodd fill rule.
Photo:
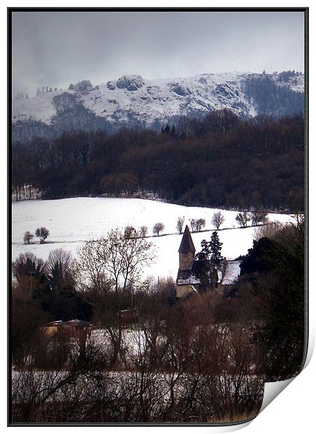
<svg viewBox="0 0 316 434">
<path fill-rule="evenodd" d="M 108 122 L 129 122 L 131 114 L 145 125 L 156 119 L 166 122 L 173 116 L 190 114 L 194 111 L 209 113 L 228 108 L 238 116 L 256 116 L 253 102 L 245 94 L 245 80 L 250 76 L 261 76 L 250 72 L 202 73 L 187 78 L 159 78 L 147 80 L 141 76 L 125 75 L 110 80 L 84 92 L 57 90 L 37 97 L 13 100 L 13 123 L 33 120 L 51 125 L 57 114 L 53 98 L 74 94 L 78 102 L 96 116 Z M 304 91 L 304 76 L 280 80 L 278 73 L 270 76 L 279 87 Z M 119 85 L 117 85 L 120 83 Z"/>
</svg>

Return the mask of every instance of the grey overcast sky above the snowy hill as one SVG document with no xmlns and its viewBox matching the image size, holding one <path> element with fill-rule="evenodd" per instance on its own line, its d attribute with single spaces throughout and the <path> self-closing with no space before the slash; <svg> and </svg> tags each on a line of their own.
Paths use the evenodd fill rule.
<svg viewBox="0 0 316 434">
<path fill-rule="evenodd" d="M 227 71 L 303 71 L 301 12 L 14 12 L 13 93 Z"/>
</svg>

